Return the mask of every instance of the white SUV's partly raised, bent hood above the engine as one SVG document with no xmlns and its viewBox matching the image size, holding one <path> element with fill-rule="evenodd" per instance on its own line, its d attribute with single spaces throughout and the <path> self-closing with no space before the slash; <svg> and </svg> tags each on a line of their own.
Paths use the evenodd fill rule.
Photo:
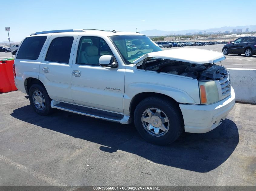
<svg viewBox="0 0 256 191">
<path fill-rule="evenodd" d="M 148 57 L 177 60 L 193 64 L 216 63 L 225 59 L 225 55 L 223 53 L 212 50 L 204 50 L 198 48 L 178 48 L 147 53 L 133 61 L 133 63 L 139 66 L 143 63 L 143 60 Z"/>
</svg>

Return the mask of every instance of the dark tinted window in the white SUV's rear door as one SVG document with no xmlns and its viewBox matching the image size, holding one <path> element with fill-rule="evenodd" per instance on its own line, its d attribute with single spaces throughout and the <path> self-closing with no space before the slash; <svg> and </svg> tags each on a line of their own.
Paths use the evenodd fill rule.
<svg viewBox="0 0 256 191">
<path fill-rule="evenodd" d="M 74 37 L 58 37 L 52 40 L 45 61 L 69 63 Z"/>
</svg>

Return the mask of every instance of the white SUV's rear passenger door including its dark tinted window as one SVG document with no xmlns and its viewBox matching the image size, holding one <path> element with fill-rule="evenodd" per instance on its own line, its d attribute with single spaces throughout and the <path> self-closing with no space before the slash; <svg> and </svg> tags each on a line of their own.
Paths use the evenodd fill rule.
<svg viewBox="0 0 256 191">
<path fill-rule="evenodd" d="M 61 44 L 62 42 L 65 43 L 65 41 L 56 40 L 59 38 L 69 37 L 73 37 L 72 41 L 68 41 L 69 44 L 72 44 L 69 46 L 67 46 L 67 44 Z M 74 103 L 71 95 L 70 72 L 77 37 L 78 34 L 74 34 L 71 36 L 67 35 L 66 33 L 57 33 L 52 34 L 50 40 L 48 41 L 42 62 L 40 63 L 39 80 L 41 80 L 45 85 L 45 88 L 51 99 Z M 53 43 L 52 46 L 51 43 Z M 57 49 L 56 47 L 58 47 L 59 49 Z M 67 47 L 69 47 L 68 50 L 66 49 Z M 69 58 L 68 56 L 66 56 L 67 62 L 64 62 L 62 60 L 63 57 L 60 56 L 63 53 L 65 53 L 65 55 L 70 53 Z M 54 58 L 56 58 L 56 60 L 60 60 L 60 62 L 49 60 Z"/>
</svg>

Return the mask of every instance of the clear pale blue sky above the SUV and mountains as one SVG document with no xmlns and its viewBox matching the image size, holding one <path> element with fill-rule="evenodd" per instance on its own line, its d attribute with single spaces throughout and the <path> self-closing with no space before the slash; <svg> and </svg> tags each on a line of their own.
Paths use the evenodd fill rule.
<svg viewBox="0 0 256 191">
<path fill-rule="evenodd" d="M 44 30 L 188 30 L 255 25 L 256 0 L 1 0 L 0 41 Z M 4 11 L 4 12 L 3 12 Z M 11 14 L 11 17 L 8 15 Z"/>
</svg>

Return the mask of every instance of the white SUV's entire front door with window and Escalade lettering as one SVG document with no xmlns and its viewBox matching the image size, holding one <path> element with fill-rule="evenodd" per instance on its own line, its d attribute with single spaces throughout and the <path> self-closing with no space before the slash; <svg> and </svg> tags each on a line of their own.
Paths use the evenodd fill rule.
<svg viewBox="0 0 256 191">
<path fill-rule="evenodd" d="M 125 65 L 108 68 L 98 64 L 101 55 L 113 55 L 114 46 L 109 43 L 99 37 L 78 37 L 77 59 L 73 58 L 71 68 L 72 98 L 79 105 L 123 113 Z"/>
</svg>

